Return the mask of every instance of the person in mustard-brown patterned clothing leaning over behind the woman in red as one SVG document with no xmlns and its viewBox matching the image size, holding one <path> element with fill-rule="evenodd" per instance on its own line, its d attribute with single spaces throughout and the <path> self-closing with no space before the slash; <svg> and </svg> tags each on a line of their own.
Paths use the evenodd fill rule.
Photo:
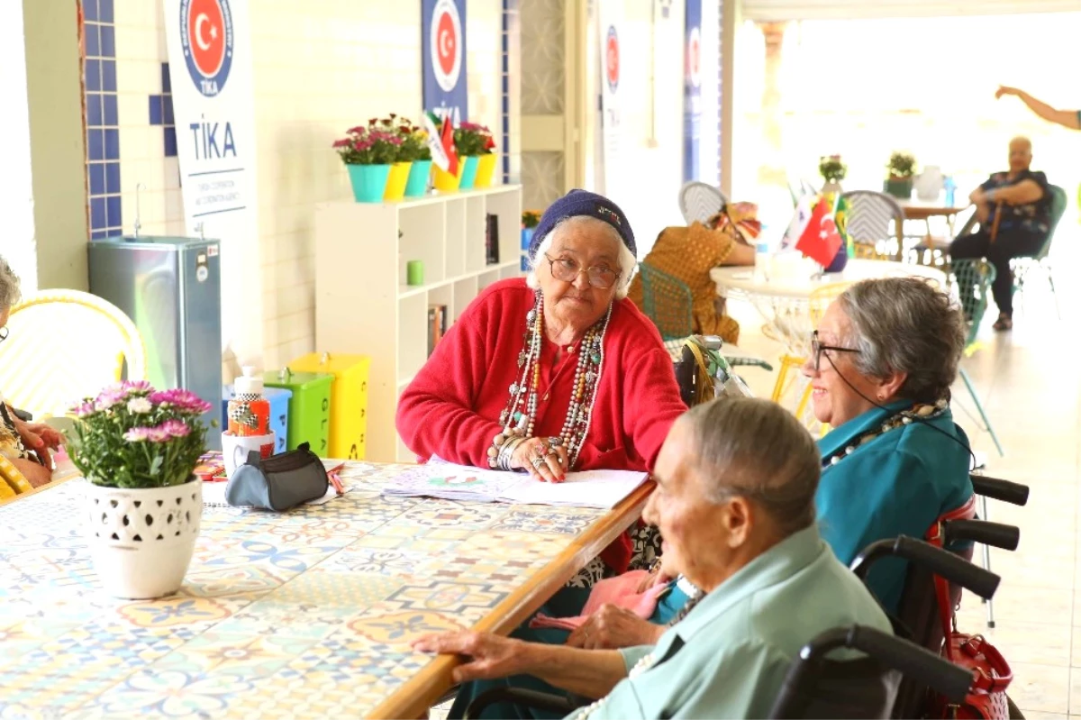
<svg viewBox="0 0 1081 720">
<path fill-rule="evenodd" d="M 694 334 L 719 335 L 725 343 L 739 341 L 739 323 L 724 314 L 724 298 L 709 271 L 719 265 L 753 265 L 753 239 L 761 227 L 755 219 L 758 208 L 749 202 L 729 203 L 705 225 L 666 227 L 642 261 L 685 283 L 691 289 L 691 319 Z M 642 276 L 630 283 L 627 297 L 644 307 Z M 659 302 L 659 301 L 658 301 Z"/>
</svg>

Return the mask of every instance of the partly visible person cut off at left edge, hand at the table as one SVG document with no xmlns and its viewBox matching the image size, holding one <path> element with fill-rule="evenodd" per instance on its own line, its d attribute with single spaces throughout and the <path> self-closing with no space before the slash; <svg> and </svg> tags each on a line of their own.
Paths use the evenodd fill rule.
<svg viewBox="0 0 1081 720">
<path fill-rule="evenodd" d="M 8 317 L 19 297 L 18 277 L 0 257 L 0 343 L 8 338 Z M 0 394 L 0 456 L 32 486 L 43 485 L 52 478 L 49 451 L 58 448 L 62 441 L 56 430 L 18 419 Z"/>
</svg>

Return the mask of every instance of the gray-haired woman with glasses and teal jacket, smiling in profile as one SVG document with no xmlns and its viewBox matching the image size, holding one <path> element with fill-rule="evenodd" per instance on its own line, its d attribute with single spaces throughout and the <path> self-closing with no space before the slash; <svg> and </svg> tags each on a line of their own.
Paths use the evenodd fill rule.
<svg viewBox="0 0 1081 720">
<path fill-rule="evenodd" d="M 972 497 L 969 439 L 949 410 L 964 336 L 949 296 L 916 278 L 858 282 L 823 316 L 803 374 L 815 417 L 833 426 L 818 441 L 815 503 L 842 562 L 878 539 L 923 537 Z M 890 612 L 904 583 L 900 561 L 868 577 Z"/>
</svg>

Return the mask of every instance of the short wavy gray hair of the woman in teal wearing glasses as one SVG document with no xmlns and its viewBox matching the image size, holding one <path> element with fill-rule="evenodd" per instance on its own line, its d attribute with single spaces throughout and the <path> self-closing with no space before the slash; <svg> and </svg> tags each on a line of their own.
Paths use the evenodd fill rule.
<svg viewBox="0 0 1081 720">
<path fill-rule="evenodd" d="M 921 278 L 864 280 L 838 302 L 851 323 L 856 369 L 870 377 L 907 373 L 897 396 L 915 402 L 949 397 L 965 345 L 964 318 L 946 293 Z"/>
</svg>

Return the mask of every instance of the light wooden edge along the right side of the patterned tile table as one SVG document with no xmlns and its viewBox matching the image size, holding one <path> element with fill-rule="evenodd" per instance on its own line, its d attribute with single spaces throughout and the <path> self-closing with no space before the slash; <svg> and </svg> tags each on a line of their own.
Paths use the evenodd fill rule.
<svg viewBox="0 0 1081 720">
<path fill-rule="evenodd" d="M 652 480 L 639 485 L 470 629 L 509 635 L 638 519 L 653 486 Z M 368 715 L 369 720 L 412 720 L 422 717 L 432 703 L 453 686 L 451 670 L 459 664 L 461 661 L 450 655 L 432 658 L 419 672 L 379 703 Z"/>
</svg>

